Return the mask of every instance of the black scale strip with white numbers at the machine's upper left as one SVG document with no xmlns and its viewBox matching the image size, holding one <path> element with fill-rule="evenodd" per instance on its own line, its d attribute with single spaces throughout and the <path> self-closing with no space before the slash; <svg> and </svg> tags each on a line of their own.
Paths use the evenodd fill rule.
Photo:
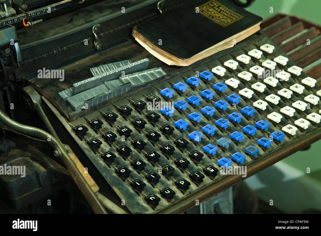
<svg viewBox="0 0 321 236">
<path fill-rule="evenodd" d="M 70 6 L 70 5 L 78 3 L 78 2 L 80 2 L 80 1 L 79 0 L 65 0 L 65 1 L 58 2 L 58 3 L 55 3 L 55 4 L 51 4 L 51 5 L 42 7 L 42 8 L 38 8 L 38 9 L 36 9 L 34 11 L 30 11 L 30 12 L 27 12 L 27 13 L 30 14 L 30 17 L 36 17 L 36 16 L 39 16 L 39 15 L 51 13 L 53 11 L 62 9 L 64 7 L 66 7 L 66 6 Z M 17 23 L 17 22 L 21 22 L 22 19 L 25 19 L 25 15 L 26 14 L 22 13 L 22 14 L 13 16 L 13 17 L 9 17 L 9 18 L 0 20 L 0 28 L 4 27 L 4 26 L 7 26 L 7 25 L 11 25 L 11 24 Z"/>
</svg>

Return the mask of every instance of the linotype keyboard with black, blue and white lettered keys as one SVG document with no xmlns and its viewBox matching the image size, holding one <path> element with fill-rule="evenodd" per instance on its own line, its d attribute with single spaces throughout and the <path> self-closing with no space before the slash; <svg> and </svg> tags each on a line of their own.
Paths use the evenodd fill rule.
<svg viewBox="0 0 321 236">
<path fill-rule="evenodd" d="M 285 156 L 320 130 L 315 84 L 265 36 L 70 122 L 70 132 L 130 212 L 191 207 L 236 182 L 221 166 Z"/>
</svg>

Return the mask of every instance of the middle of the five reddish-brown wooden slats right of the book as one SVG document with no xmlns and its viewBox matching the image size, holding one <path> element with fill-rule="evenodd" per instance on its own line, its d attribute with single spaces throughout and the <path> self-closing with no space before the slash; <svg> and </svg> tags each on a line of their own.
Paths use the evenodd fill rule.
<svg viewBox="0 0 321 236">
<path fill-rule="evenodd" d="M 287 52 L 291 51 L 293 48 L 296 48 L 296 47 L 300 46 L 301 44 L 303 44 L 304 42 L 307 42 L 307 39 L 312 39 L 316 36 L 317 36 L 316 28 L 311 27 L 310 29 L 304 30 L 304 31 L 292 36 L 291 38 L 283 41 L 280 44 L 280 48 L 282 49 L 283 52 L 287 53 Z"/>
</svg>

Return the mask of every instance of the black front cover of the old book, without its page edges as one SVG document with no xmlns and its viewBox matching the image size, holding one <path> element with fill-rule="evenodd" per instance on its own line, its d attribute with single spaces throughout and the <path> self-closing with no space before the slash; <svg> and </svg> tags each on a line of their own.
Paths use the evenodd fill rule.
<svg viewBox="0 0 321 236">
<path fill-rule="evenodd" d="M 261 21 L 230 0 L 192 0 L 134 29 L 162 50 L 187 59 Z"/>
</svg>

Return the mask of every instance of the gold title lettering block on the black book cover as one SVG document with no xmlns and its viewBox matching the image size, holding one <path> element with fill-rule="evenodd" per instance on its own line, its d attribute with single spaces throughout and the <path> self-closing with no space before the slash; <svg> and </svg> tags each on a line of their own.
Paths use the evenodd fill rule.
<svg viewBox="0 0 321 236">
<path fill-rule="evenodd" d="M 243 18 L 242 15 L 233 12 L 216 0 L 208 1 L 199 6 L 199 13 L 223 27 L 233 24 Z"/>
</svg>

